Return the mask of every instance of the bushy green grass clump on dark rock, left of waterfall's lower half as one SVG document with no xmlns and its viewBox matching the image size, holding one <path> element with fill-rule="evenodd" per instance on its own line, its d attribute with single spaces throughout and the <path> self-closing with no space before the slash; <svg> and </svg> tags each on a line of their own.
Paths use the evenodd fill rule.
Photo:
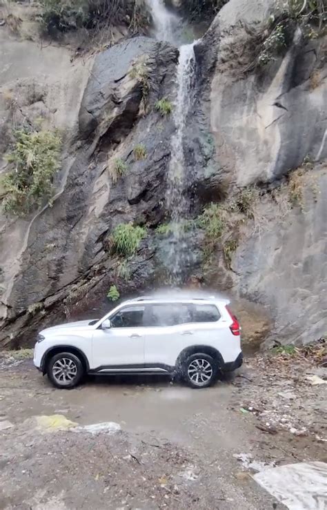
<svg viewBox="0 0 327 510">
<path fill-rule="evenodd" d="M 146 237 L 144 227 L 134 226 L 132 223 L 117 225 L 110 237 L 111 251 L 123 257 L 135 255 L 144 237 Z"/>
</svg>

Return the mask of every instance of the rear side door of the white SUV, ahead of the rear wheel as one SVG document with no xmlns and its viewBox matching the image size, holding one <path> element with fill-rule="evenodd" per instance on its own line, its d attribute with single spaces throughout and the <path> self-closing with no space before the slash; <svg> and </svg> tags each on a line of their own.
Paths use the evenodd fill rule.
<svg viewBox="0 0 327 510">
<path fill-rule="evenodd" d="M 175 366 L 181 351 L 192 344 L 194 324 L 187 303 L 155 303 L 144 314 L 145 363 L 159 368 Z"/>
</svg>

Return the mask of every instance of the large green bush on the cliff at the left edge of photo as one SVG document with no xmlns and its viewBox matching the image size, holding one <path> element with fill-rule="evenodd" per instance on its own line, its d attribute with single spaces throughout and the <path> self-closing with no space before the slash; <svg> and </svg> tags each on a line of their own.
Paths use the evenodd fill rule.
<svg viewBox="0 0 327 510">
<path fill-rule="evenodd" d="M 60 166 L 61 137 L 57 131 L 14 131 L 6 156 L 12 170 L 3 177 L 3 210 L 21 215 L 50 201 L 53 178 Z"/>
</svg>

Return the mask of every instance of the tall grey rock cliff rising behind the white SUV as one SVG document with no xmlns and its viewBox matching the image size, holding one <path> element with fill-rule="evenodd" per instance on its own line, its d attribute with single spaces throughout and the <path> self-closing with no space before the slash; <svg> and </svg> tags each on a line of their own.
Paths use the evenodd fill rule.
<svg viewBox="0 0 327 510">
<path fill-rule="evenodd" d="M 326 333 L 326 37 L 295 30 L 281 55 L 254 68 L 249 26 L 274 9 L 230 0 L 195 46 L 184 133 L 192 257 L 182 280 L 228 293 L 248 340 L 308 342 Z M 64 141 L 52 207 L 1 217 L 0 346 L 32 344 L 57 320 L 99 315 L 112 284 L 125 297 L 171 283 L 175 241 L 157 227 L 171 216 L 175 124 L 155 104 L 175 99 L 178 57 L 168 43 L 134 37 L 72 58 L 69 46 L 41 48 L 0 27 L 1 152 L 12 128 L 39 117 Z M 119 178 L 117 159 L 126 170 Z M 214 242 L 197 222 L 211 202 L 224 213 Z M 122 261 L 110 235 L 128 222 L 147 231 Z"/>
</svg>

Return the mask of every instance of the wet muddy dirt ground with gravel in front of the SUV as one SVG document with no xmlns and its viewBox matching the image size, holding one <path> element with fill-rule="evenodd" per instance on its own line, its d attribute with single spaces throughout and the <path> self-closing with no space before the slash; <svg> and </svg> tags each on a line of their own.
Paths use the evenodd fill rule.
<svg viewBox="0 0 327 510">
<path fill-rule="evenodd" d="M 135 377 L 63 391 L 31 360 L 2 357 L 0 509 L 285 508 L 252 474 L 327 462 L 326 370 L 255 355 L 201 391 Z"/>
</svg>

